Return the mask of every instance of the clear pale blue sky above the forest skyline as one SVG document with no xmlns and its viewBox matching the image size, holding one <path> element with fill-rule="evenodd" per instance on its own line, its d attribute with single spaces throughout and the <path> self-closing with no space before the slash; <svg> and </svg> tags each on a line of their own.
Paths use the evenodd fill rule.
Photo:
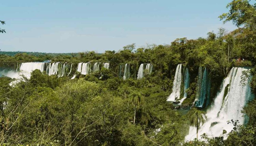
<svg viewBox="0 0 256 146">
<path fill-rule="evenodd" d="M 1 0 L 2 51 L 120 50 L 196 39 L 223 27 L 218 16 L 231 0 Z"/>
</svg>

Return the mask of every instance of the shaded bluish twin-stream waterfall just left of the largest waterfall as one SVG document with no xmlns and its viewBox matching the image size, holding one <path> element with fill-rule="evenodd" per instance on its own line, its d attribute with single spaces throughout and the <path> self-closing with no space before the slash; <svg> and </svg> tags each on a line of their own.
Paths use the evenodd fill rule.
<svg viewBox="0 0 256 146">
<path fill-rule="evenodd" d="M 197 93 L 194 105 L 196 107 L 207 107 L 210 103 L 210 89 L 211 82 L 208 76 L 207 68 L 204 68 L 202 74 L 202 67 L 199 67 L 197 79 Z"/>
</svg>

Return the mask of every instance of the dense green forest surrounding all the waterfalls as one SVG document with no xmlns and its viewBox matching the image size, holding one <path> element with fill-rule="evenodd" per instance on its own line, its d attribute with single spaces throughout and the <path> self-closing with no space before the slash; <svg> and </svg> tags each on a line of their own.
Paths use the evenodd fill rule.
<svg viewBox="0 0 256 146">
<path fill-rule="evenodd" d="M 256 145 L 256 100 L 243 109 L 248 123 L 230 119 L 233 131 L 224 137 L 199 135 L 203 141 L 185 141 L 190 125 L 203 123 L 205 110 L 191 108 L 179 112 L 167 97 L 172 92 L 175 68 L 179 63 L 190 72 L 187 98 L 182 107 L 191 107 L 196 97 L 198 69 L 209 69 L 211 99 L 232 67 L 252 67 L 250 86 L 256 93 L 256 4 L 233 0 L 229 12 L 219 16 L 232 21 L 238 29 L 219 28 L 207 38 L 177 38 L 166 45 L 148 45 L 136 49 L 126 45 L 120 51 L 79 53 L 0 52 L 0 66 L 17 62 L 52 60 L 52 62 L 109 62 L 110 69 L 82 75 L 75 79 L 48 76 L 34 70 L 30 78 L 15 86 L 14 80 L 0 77 L 1 145 L 128 145 L 128 146 L 254 146 Z M 4 34 L 1 34 L 4 35 Z M 237 59 L 241 59 L 238 62 Z M 154 71 L 142 79 L 118 77 L 120 63 L 130 63 L 138 70 L 141 63 L 152 63 Z M 136 72 L 134 72 L 136 76 Z M 247 73 L 244 73 L 246 78 Z M 101 77 L 100 77 L 101 76 Z M 242 77 L 243 78 L 243 77 Z M 193 119 L 194 118 L 194 119 Z M 193 121 L 194 120 L 194 121 Z M 200 124 L 199 124 L 200 125 Z M 160 129 L 160 130 L 158 130 Z M 223 131 L 225 134 L 225 131 Z"/>
</svg>

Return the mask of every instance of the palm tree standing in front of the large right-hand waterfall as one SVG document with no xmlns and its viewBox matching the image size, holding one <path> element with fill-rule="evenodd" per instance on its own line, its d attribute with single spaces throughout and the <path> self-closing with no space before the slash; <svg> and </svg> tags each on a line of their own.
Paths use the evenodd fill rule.
<svg viewBox="0 0 256 146">
<path fill-rule="evenodd" d="M 189 110 L 188 114 L 189 116 L 189 121 L 190 121 L 190 126 L 195 126 L 197 128 L 197 139 L 198 139 L 198 130 L 200 125 L 204 124 L 205 120 L 204 120 L 204 112 L 198 110 L 197 108 L 192 108 Z"/>
</svg>

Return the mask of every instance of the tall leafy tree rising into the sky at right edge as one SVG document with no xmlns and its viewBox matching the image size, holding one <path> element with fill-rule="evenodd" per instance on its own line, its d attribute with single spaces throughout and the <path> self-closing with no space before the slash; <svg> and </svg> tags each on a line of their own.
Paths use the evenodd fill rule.
<svg viewBox="0 0 256 146">
<path fill-rule="evenodd" d="M 228 13 L 219 18 L 226 23 L 232 21 L 237 27 L 241 27 L 233 33 L 236 35 L 237 44 L 240 44 L 241 53 L 247 59 L 256 57 L 256 3 L 250 0 L 233 0 L 228 3 Z"/>
</svg>

